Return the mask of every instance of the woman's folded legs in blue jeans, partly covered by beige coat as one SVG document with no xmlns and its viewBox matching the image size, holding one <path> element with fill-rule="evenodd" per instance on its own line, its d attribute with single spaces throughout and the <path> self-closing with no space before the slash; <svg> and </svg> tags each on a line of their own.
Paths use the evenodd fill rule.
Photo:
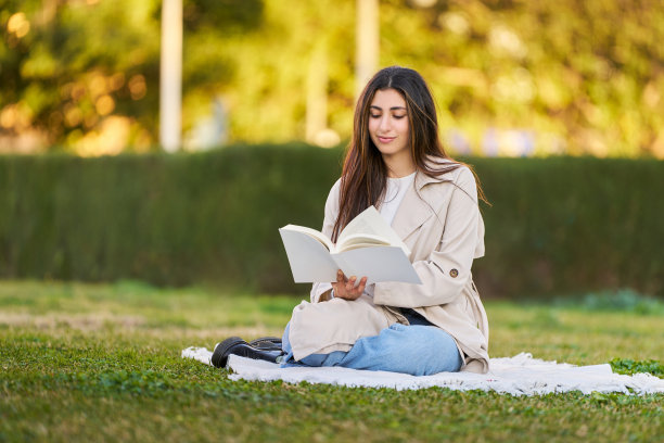
<svg viewBox="0 0 664 443">
<path fill-rule="evenodd" d="M 414 376 L 459 370 L 462 359 L 455 340 L 412 309 L 404 309 L 404 315 L 410 326 L 390 321 L 369 298 L 303 302 L 283 333 L 282 366 L 344 366 Z M 353 344 L 336 345 L 345 343 Z M 330 347 L 336 350 L 324 351 Z M 302 356 L 295 360 L 298 352 Z"/>
</svg>

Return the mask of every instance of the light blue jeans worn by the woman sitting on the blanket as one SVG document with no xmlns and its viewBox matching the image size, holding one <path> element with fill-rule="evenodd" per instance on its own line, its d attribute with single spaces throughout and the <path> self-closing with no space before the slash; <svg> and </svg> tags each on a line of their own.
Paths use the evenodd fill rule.
<svg viewBox="0 0 664 443">
<path fill-rule="evenodd" d="M 458 371 L 463 362 L 451 336 L 412 311 L 405 315 L 410 326 L 394 324 L 378 336 L 359 339 L 348 352 L 311 354 L 299 362 L 293 359 L 286 325 L 282 339 L 286 355 L 281 366 L 343 366 L 412 376 Z"/>
</svg>

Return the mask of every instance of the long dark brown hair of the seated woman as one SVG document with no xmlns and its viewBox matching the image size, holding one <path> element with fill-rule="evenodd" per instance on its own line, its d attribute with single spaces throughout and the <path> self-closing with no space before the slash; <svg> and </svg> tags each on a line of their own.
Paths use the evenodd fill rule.
<svg viewBox="0 0 664 443">
<path fill-rule="evenodd" d="M 417 71 L 400 66 L 379 71 L 365 87 L 355 107 L 353 139 L 344 160 L 333 241 L 353 218 L 367 207 L 376 205 L 384 197 L 387 167 L 369 135 L 369 109 L 375 92 L 390 88 L 397 90 L 406 101 L 409 147 L 417 170 L 437 178 L 463 165 L 447 155 L 440 143 L 436 106 L 422 76 Z M 435 159 L 433 164 L 427 162 L 427 157 Z M 475 180 L 480 198 L 486 201 L 476 176 Z"/>
</svg>

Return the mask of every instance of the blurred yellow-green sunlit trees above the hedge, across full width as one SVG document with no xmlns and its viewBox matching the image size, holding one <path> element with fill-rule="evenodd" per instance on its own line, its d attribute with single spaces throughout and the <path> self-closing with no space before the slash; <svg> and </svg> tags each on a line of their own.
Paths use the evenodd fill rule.
<svg viewBox="0 0 664 443">
<path fill-rule="evenodd" d="M 345 142 L 378 25 L 375 67 L 423 74 L 455 154 L 664 159 L 661 1 L 360 3 L 183 0 L 182 149 Z M 161 149 L 162 1 L 3 1 L 0 26 L 1 153 Z"/>
</svg>

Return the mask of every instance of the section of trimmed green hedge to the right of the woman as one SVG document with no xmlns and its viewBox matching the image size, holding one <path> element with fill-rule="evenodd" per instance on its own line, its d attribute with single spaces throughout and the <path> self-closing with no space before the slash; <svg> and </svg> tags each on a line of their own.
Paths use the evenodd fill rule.
<svg viewBox="0 0 664 443">
<path fill-rule="evenodd" d="M 497 294 L 664 295 L 664 162 L 474 160 L 488 199 L 478 284 Z"/>
</svg>

